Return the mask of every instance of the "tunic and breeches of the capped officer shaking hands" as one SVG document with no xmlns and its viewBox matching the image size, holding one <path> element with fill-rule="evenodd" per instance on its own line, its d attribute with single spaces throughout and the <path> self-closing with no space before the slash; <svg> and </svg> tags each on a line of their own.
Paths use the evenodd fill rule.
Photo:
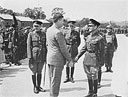
<svg viewBox="0 0 128 97">
<path fill-rule="evenodd" d="M 94 79 L 98 77 L 98 67 L 100 66 L 100 53 L 103 53 L 102 49 L 103 37 L 98 33 L 95 35 L 89 35 L 85 42 L 85 45 L 80 50 L 78 58 L 80 58 L 84 53 L 85 57 L 83 60 L 83 67 L 87 73 L 87 77 Z M 93 67 L 93 68 L 92 68 Z M 91 75 L 90 75 L 91 74 Z"/>
</svg>

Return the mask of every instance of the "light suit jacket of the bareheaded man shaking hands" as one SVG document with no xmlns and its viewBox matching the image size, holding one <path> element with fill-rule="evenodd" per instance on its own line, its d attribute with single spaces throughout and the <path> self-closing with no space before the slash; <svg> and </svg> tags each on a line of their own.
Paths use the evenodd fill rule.
<svg viewBox="0 0 128 97">
<path fill-rule="evenodd" d="M 64 66 L 66 60 L 71 60 L 66 46 L 66 41 L 61 30 L 57 29 L 55 25 L 50 27 L 46 33 L 47 39 L 47 63 L 55 66 Z"/>
</svg>

